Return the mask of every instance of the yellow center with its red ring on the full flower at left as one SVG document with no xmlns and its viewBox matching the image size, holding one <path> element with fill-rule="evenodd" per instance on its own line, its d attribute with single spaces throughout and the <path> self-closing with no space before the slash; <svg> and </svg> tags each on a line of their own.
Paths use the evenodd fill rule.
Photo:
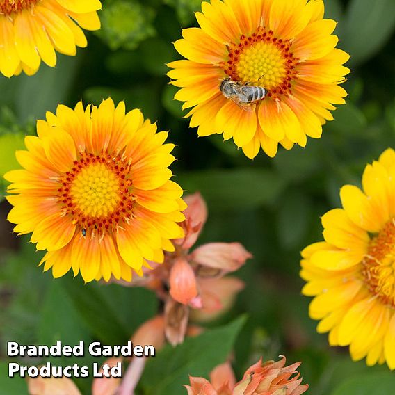
<svg viewBox="0 0 395 395">
<path fill-rule="evenodd" d="M 83 236 L 118 232 L 133 217 L 130 163 L 122 154 L 83 153 L 59 179 L 58 204 L 78 224 Z"/>
</svg>

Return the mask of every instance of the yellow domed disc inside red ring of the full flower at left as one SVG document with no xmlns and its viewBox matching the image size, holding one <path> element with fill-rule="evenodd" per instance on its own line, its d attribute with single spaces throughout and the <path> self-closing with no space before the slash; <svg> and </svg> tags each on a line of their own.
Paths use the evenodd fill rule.
<svg viewBox="0 0 395 395">
<path fill-rule="evenodd" d="M 92 164 L 72 182 L 72 202 L 86 216 L 108 216 L 120 200 L 119 184 L 118 177 L 106 165 Z"/>
</svg>

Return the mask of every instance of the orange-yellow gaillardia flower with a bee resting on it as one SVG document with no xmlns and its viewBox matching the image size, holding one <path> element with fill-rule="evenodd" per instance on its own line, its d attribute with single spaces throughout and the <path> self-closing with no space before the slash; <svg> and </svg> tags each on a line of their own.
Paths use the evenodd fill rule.
<svg viewBox="0 0 395 395">
<path fill-rule="evenodd" d="M 223 133 L 251 159 L 260 147 L 273 157 L 278 143 L 290 150 L 319 138 L 333 104 L 344 104 L 339 83 L 350 72 L 342 66 L 348 54 L 335 48 L 336 22 L 323 11 L 322 0 L 202 2 L 200 28 L 184 29 L 175 42 L 186 60 L 168 73 L 198 135 Z"/>
</svg>

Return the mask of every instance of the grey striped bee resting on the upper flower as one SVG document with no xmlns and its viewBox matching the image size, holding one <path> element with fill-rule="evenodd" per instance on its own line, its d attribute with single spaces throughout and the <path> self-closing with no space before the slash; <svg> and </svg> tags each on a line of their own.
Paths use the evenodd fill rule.
<svg viewBox="0 0 395 395">
<path fill-rule="evenodd" d="M 224 79 L 220 84 L 220 91 L 227 98 L 235 102 L 245 111 L 252 111 L 258 100 L 266 96 L 266 89 L 252 83 Z"/>
</svg>

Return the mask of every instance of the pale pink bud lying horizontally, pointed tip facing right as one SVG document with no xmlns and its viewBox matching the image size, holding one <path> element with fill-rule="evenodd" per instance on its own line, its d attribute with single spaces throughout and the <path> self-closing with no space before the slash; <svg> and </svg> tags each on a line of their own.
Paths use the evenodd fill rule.
<svg viewBox="0 0 395 395">
<path fill-rule="evenodd" d="M 191 259 L 197 264 L 218 268 L 225 273 L 236 271 L 248 258 L 252 255 L 240 243 L 208 243 L 191 254 Z"/>
</svg>

